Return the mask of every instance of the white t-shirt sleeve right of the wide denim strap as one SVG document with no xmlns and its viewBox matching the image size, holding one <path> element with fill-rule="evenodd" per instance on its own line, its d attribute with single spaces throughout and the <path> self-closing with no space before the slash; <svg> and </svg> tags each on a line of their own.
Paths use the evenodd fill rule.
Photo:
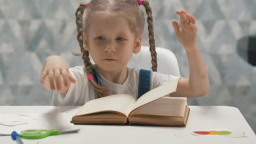
<svg viewBox="0 0 256 144">
<path fill-rule="evenodd" d="M 151 89 L 157 88 L 177 78 L 179 77 L 174 75 L 162 74 L 160 72 L 152 72 L 151 73 Z"/>
</svg>

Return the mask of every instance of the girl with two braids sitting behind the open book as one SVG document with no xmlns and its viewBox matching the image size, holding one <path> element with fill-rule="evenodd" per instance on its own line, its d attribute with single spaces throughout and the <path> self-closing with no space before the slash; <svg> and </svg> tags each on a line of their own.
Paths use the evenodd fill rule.
<svg viewBox="0 0 256 144">
<path fill-rule="evenodd" d="M 152 57 L 150 89 L 177 77 L 157 71 L 152 10 L 147 0 L 92 0 L 76 10 L 77 40 L 84 66 L 68 69 L 60 56 L 49 56 L 43 66 L 41 84 L 53 92 L 53 105 L 84 105 L 95 98 L 124 93 L 138 98 L 140 70 L 127 68 L 132 53 L 141 49 L 144 29 L 144 6 L 147 13 L 149 44 Z M 177 39 L 184 46 L 190 74 L 181 78 L 173 97 L 199 97 L 209 91 L 206 67 L 197 47 L 196 19 L 185 10 L 172 24 Z M 89 59 L 89 52 L 95 65 Z"/>
</svg>

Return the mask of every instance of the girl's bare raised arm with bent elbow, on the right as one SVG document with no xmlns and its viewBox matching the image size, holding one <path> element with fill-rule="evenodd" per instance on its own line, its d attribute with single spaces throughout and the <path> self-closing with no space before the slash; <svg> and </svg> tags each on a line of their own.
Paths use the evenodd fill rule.
<svg viewBox="0 0 256 144">
<path fill-rule="evenodd" d="M 210 84 L 207 69 L 196 44 L 196 19 L 185 10 L 177 11 L 176 13 L 181 17 L 181 28 L 176 20 L 173 20 L 172 23 L 177 38 L 187 53 L 189 77 L 181 78 L 177 85 L 177 91 L 170 96 L 200 97 L 208 93 Z"/>
</svg>

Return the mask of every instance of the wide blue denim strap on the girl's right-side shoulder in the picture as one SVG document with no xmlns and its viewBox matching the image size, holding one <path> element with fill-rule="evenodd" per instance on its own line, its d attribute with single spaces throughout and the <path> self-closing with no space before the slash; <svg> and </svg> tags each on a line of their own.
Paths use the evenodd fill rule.
<svg viewBox="0 0 256 144">
<path fill-rule="evenodd" d="M 150 90 L 151 71 L 140 69 L 138 98 Z"/>
</svg>

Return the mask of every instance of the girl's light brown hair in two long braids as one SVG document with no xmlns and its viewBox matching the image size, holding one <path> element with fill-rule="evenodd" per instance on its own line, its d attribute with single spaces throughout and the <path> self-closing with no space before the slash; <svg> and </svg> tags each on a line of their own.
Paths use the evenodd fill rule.
<svg viewBox="0 0 256 144">
<path fill-rule="evenodd" d="M 158 64 L 157 53 L 155 51 L 152 10 L 147 0 L 141 1 L 148 15 L 148 36 L 152 58 L 151 69 L 153 72 L 156 72 Z M 108 14 L 123 14 L 126 20 L 128 20 L 129 28 L 134 31 L 136 38 L 138 38 L 138 36 L 142 35 L 143 33 L 144 13 L 139 7 L 137 0 L 92 0 L 89 6 L 88 4 L 81 3 L 75 12 L 75 22 L 78 32 L 77 40 L 79 42 L 81 53 L 77 54 L 73 52 L 73 55 L 82 56 L 85 65 L 85 72 L 87 75 L 92 75 L 94 68 L 89 59 L 89 51 L 83 48 L 83 32 L 85 32 L 88 36 L 88 29 L 90 27 L 90 21 L 92 18 L 95 16 L 100 16 L 106 12 L 108 12 Z M 101 85 L 98 85 L 94 79 L 92 79 L 91 82 L 98 98 L 107 96 L 106 92 L 110 91 L 110 88 L 105 88 Z"/>
</svg>

